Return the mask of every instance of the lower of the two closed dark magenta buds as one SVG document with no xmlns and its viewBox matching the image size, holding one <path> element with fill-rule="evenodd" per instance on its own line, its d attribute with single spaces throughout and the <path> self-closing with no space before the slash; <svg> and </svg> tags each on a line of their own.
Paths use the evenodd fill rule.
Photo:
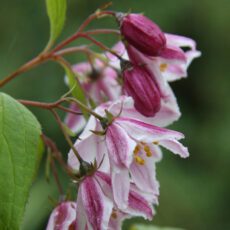
<svg viewBox="0 0 230 230">
<path fill-rule="evenodd" d="M 160 92 L 147 70 L 132 66 L 123 71 L 124 91 L 134 100 L 135 108 L 144 116 L 154 116 L 160 110 Z"/>
</svg>

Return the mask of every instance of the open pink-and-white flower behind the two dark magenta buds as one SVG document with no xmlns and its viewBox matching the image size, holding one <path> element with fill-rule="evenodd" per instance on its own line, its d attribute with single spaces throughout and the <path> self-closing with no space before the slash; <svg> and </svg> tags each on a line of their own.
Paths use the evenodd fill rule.
<svg viewBox="0 0 230 230">
<path fill-rule="evenodd" d="M 162 56 L 147 57 L 133 46 L 126 45 L 125 47 L 121 42 L 117 43 L 117 45 L 113 48 L 113 50 L 121 55 L 122 58 L 129 60 L 135 66 L 144 68 L 148 72 L 148 75 L 151 76 L 151 85 L 154 85 L 155 88 L 158 89 L 161 97 L 160 110 L 155 114 L 155 116 L 162 117 L 162 113 L 164 115 L 166 113 L 169 115 L 167 122 L 163 122 L 163 126 L 169 125 L 180 117 L 180 110 L 177 105 L 176 98 L 168 82 L 186 77 L 187 68 L 192 60 L 201 55 L 200 51 L 196 50 L 196 43 L 192 39 L 171 34 L 165 34 L 165 37 L 166 48 L 168 50 L 173 49 L 175 52 L 174 55 L 171 56 L 167 56 L 165 54 L 164 58 Z M 183 51 L 181 47 L 188 47 L 189 49 L 187 51 Z M 110 59 L 110 65 L 116 69 L 120 69 L 120 61 L 111 54 L 107 54 L 107 56 Z M 136 78 L 140 79 L 141 77 L 136 76 Z M 148 89 L 145 86 L 147 83 L 144 81 L 144 78 L 143 81 L 141 80 L 142 79 L 140 79 L 139 82 L 142 85 L 142 88 Z M 124 88 L 126 88 L 125 83 L 126 82 L 124 82 Z M 133 87 L 135 87 L 135 84 L 133 84 Z M 135 94 L 133 93 L 134 96 L 138 95 L 138 90 L 133 91 L 135 92 Z M 146 93 L 146 95 L 151 95 L 151 92 L 155 91 L 150 91 L 148 94 Z M 129 95 L 133 97 L 132 94 Z M 141 93 L 139 95 L 141 97 Z M 133 98 L 135 101 L 138 101 L 135 97 Z M 151 99 L 150 96 L 148 96 L 148 98 L 149 100 Z M 149 106 L 149 108 L 151 107 Z M 151 111 L 151 109 L 149 110 Z"/>
</svg>

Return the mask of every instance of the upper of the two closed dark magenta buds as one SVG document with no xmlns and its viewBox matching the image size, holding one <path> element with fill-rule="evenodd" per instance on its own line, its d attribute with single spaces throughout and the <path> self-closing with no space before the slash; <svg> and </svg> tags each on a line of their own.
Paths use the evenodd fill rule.
<svg viewBox="0 0 230 230">
<path fill-rule="evenodd" d="M 165 48 L 166 38 L 161 29 L 141 14 L 128 14 L 121 17 L 121 34 L 140 52 L 157 56 Z"/>
</svg>

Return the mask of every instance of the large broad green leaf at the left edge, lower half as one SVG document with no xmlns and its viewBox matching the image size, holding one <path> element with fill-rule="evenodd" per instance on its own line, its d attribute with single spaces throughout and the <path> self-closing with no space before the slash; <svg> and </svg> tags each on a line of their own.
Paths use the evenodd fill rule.
<svg viewBox="0 0 230 230">
<path fill-rule="evenodd" d="M 0 93 L 0 229 L 19 229 L 42 152 L 34 115 Z"/>
</svg>

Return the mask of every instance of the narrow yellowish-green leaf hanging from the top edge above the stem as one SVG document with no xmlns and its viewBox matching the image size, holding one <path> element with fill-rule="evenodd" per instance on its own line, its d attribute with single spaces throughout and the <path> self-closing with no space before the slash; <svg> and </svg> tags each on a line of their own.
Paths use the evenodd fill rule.
<svg viewBox="0 0 230 230">
<path fill-rule="evenodd" d="M 47 45 L 49 49 L 60 35 L 66 18 L 66 0 L 46 0 L 47 14 L 50 20 L 50 39 Z"/>
</svg>

